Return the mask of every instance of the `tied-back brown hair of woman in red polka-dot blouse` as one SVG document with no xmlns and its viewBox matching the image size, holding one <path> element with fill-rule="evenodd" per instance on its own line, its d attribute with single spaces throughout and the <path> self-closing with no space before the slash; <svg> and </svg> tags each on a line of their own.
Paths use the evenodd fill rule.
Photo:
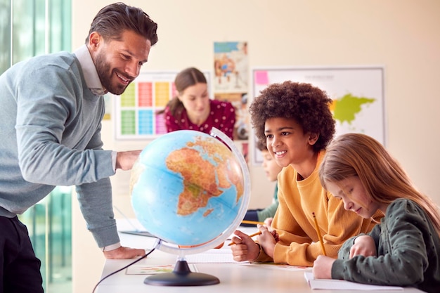
<svg viewBox="0 0 440 293">
<path fill-rule="evenodd" d="M 188 67 L 182 70 L 176 75 L 176 79 L 174 79 L 174 86 L 176 86 L 178 93 L 183 93 L 188 87 L 195 86 L 195 84 L 207 84 L 205 74 L 195 67 Z M 169 107 L 169 112 L 171 112 L 176 119 L 180 120 L 183 103 L 179 98 L 174 96 L 174 98 L 169 100 L 167 106 Z M 160 110 L 157 111 L 156 114 L 162 114 L 163 112 L 164 110 Z"/>
</svg>

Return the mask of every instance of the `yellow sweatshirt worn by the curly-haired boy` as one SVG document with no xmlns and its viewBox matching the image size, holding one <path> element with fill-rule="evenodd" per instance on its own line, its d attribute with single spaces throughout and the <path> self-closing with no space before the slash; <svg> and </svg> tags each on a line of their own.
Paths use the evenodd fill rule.
<svg viewBox="0 0 440 293">
<path fill-rule="evenodd" d="M 318 169 L 325 152 L 318 155 L 316 168 L 308 178 L 298 180 L 293 167 L 283 168 L 278 174 L 279 205 L 273 218 L 280 241 L 276 243 L 274 257 L 263 249 L 254 261 L 274 261 L 292 266 L 313 266 L 318 255 L 323 254 L 315 229 L 313 212 L 321 230 L 327 256 L 337 258 L 339 247 L 349 237 L 368 233 L 380 222 L 383 214 L 377 211 L 372 219 L 363 219 L 353 211 L 344 209 L 344 202 L 326 192 L 319 181 Z"/>
</svg>

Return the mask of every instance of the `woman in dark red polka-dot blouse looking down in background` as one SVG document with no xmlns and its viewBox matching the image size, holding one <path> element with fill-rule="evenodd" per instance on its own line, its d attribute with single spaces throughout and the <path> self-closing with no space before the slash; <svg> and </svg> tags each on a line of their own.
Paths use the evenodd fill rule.
<svg viewBox="0 0 440 293">
<path fill-rule="evenodd" d="M 196 130 L 210 134 L 212 127 L 233 139 L 235 109 L 229 102 L 209 98 L 205 74 L 189 67 L 174 80 L 177 96 L 172 98 L 164 113 L 167 131 Z"/>
</svg>

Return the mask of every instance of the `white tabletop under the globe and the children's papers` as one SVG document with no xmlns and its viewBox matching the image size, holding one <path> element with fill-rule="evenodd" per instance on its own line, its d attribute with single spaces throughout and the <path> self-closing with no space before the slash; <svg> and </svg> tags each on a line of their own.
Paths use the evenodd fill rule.
<svg viewBox="0 0 440 293">
<path fill-rule="evenodd" d="M 118 222 L 118 227 L 121 228 Z M 127 228 L 127 226 L 125 226 Z M 128 227 L 129 228 L 129 227 Z M 249 228 L 243 228 L 245 230 Z M 256 230 L 255 228 L 253 228 Z M 245 230 L 248 232 L 249 230 Z M 121 233 L 122 245 L 137 248 L 152 248 L 155 243 L 155 238 L 128 235 Z M 222 249 L 230 249 L 225 246 Z M 126 266 L 133 260 L 107 260 L 103 268 L 102 277 L 117 271 L 117 269 Z M 136 263 L 136 265 L 158 265 L 158 264 L 174 264 L 176 262 L 176 255 L 168 254 L 155 250 L 146 259 Z M 189 261 L 188 261 L 189 262 Z M 140 293 L 140 292 L 155 292 L 155 293 L 175 293 L 175 292 L 191 292 L 191 293 L 302 293 L 302 292 L 317 292 L 317 293 L 335 293 L 347 291 L 335 290 L 317 290 L 310 289 L 306 280 L 304 279 L 304 271 L 289 271 L 273 266 L 249 264 L 249 263 L 196 263 L 196 268 L 199 273 L 207 273 L 219 278 L 220 283 L 217 285 L 206 286 L 157 286 L 145 285 L 143 280 L 147 275 L 127 275 L 124 271 L 116 273 L 109 278 L 103 280 L 98 286 L 96 292 L 98 293 Z M 375 293 L 419 293 L 422 292 L 414 288 L 406 288 L 403 291 L 372 291 Z"/>
</svg>

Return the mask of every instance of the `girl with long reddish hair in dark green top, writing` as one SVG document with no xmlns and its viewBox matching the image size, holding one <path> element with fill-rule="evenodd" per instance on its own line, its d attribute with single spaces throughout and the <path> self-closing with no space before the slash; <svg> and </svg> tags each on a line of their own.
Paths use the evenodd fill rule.
<svg viewBox="0 0 440 293">
<path fill-rule="evenodd" d="M 440 214 L 374 138 L 344 134 L 328 147 L 319 176 L 345 209 L 365 219 L 380 209 L 381 223 L 347 240 L 339 259 L 319 256 L 315 278 L 375 285 L 440 288 Z"/>
</svg>

